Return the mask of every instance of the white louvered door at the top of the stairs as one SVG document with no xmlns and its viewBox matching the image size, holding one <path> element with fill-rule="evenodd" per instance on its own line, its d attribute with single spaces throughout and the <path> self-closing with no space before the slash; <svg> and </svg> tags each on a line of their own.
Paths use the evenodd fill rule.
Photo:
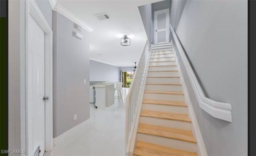
<svg viewBox="0 0 256 156">
<path fill-rule="evenodd" d="M 154 12 L 154 44 L 169 42 L 169 9 Z"/>
</svg>

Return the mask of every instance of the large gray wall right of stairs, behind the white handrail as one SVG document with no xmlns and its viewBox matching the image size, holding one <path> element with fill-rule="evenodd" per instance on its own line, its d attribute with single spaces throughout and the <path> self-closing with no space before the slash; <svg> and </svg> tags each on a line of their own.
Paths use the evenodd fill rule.
<svg viewBox="0 0 256 156">
<path fill-rule="evenodd" d="M 210 116 L 182 73 L 209 156 L 248 154 L 247 11 L 242 0 L 190 0 L 176 30 L 206 96 L 232 105 L 231 123 Z"/>
</svg>

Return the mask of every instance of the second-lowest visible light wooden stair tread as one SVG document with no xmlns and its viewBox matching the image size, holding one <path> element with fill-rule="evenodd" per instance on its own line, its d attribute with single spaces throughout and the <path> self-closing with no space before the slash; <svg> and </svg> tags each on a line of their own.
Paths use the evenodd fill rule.
<svg viewBox="0 0 256 156">
<path fill-rule="evenodd" d="M 148 124 L 139 124 L 138 133 L 196 143 L 192 132 L 188 130 L 166 128 Z"/>
</svg>

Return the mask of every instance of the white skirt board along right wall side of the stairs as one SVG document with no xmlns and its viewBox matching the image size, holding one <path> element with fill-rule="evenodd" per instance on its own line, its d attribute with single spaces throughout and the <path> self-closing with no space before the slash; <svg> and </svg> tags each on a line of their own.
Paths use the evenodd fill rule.
<svg viewBox="0 0 256 156">
<path fill-rule="evenodd" d="M 205 145 L 204 145 L 204 140 L 202 138 L 202 134 L 200 132 L 199 125 L 198 125 L 198 122 L 197 122 L 197 119 L 196 119 L 196 115 L 194 113 L 192 102 L 191 102 L 189 94 L 188 94 L 188 89 L 186 87 L 185 81 L 184 81 L 183 76 L 182 76 L 182 72 L 180 70 L 180 66 L 179 66 L 177 57 L 176 57 L 176 63 L 177 63 L 178 71 L 179 71 L 180 81 L 181 81 L 181 84 L 182 84 L 182 90 L 183 90 L 184 96 L 185 96 L 184 97 L 185 98 L 185 103 L 188 105 L 188 116 L 192 120 L 192 133 L 193 133 L 193 135 L 194 135 L 194 137 L 196 138 L 196 141 L 197 141 L 197 148 L 198 148 L 197 149 L 197 151 L 198 151 L 197 154 L 198 154 L 198 156 L 208 156 Z"/>
</svg>

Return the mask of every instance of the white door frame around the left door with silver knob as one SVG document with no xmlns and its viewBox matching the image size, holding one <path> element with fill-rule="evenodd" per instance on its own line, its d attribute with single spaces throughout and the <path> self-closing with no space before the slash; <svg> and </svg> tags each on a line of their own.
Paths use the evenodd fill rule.
<svg viewBox="0 0 256 156">
<path fill-rule="evenodd" d="M 53 94 L 52 94 L 52 28 L 44 18 L 40 8 L 35 0 L 26 0 L 25 6 L 25 86 L 26 86 L 26 151 L 28 151 L 28 17 L 31 15 L 36 23 L 44 32 L 44 50 L 45 50 L 45 96 L 49 96 L 49 100 L 45 101 L 45 118 L 44 118 L 44 141 L 45 151 L 49 151 L 53 147 Z"/>
</svg>

